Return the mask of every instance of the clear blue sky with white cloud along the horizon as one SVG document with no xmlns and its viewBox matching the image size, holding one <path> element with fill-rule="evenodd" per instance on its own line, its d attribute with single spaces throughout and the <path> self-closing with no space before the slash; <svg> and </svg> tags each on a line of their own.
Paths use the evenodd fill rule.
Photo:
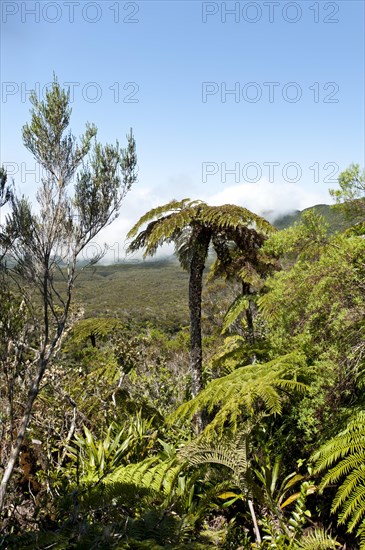
<svg viewBox="0 0 365 550">
<path fill-rule="evenodd" d="M 364 2 L 5 1 L 1 163 L 35 196 L 28 92 L 53 72 L 71 127 L 137 141 L 139 181 L 102 239 L 172 198 L 258 213 L 330 202 L 364 160 Z M 68 83 L 68 84 L 67 84 Z M 23 164 L 22 164 L 23 163 Z"/>
</svg>

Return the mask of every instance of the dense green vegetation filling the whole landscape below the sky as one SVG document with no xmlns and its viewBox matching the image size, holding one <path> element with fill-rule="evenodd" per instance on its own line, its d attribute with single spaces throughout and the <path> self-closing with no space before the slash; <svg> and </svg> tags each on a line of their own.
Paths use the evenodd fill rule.
<svg viewBox="0 0 365 550">
<path fill-rule="evenodd" d="M 67 107 L 57 82 L 44 104 L 33 99 L 57 127 L 56 110 L 47 110 L 47 101 Z M 44 128 L 37 120 L 33 132 Z M 62 132 L 47 135 L 70 145 Z M 80 149 L 68 151 L 70 160 Z M 359 167 L 341 174 L 334 193 L 332 221 L 346 215 L 346 229 L 329 230 L 316 210 L 275 231 L 231 205 L 169 203 L 144 221 L 163 225 L 172 204 L 173 222 L 176 213 L 184 219 L 157 236 L 158 223 L 150 226 L 137 244 L 154 251 L 161 239 L 174 241 L 187 273 L 167 261 L 76 269 L 78 248 L 70 260 L 71 244 L 63 256 L 57 244 L 67 235 L 87 242 L 95 224 L 109 223 L 122 197 L 104 185 L 110 177 L 115 190 L 122 184 L 114 162 L 133 183 L 132 136 L 122 155 L 97 145 L 76 198 L 63 189 L 58 202 L 47 185 L 61 181 L 55 167 L 65 157 L 42 154 L 47 219 L 14 196 L 4 171 L 0 180 L 0 204 L 11 207 L 0 241 L 0 547 L 364 549 Z M 71 204 L 81 225 L 67 217 Z M 42 239 L 31 240 L 32 231 Z M 188 284 L 200 253 L 196 392 Z"/>
</svg>

